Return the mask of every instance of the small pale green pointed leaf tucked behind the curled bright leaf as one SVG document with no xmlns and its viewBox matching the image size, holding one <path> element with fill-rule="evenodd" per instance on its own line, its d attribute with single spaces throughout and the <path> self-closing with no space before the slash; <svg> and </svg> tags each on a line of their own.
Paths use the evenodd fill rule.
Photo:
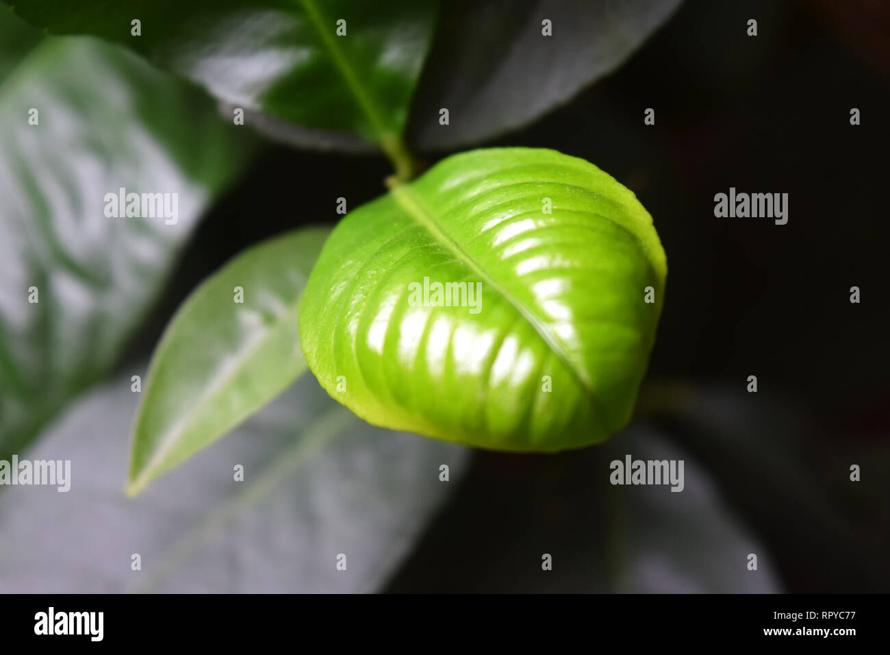
<svg viewBox="0 0 890 655">
<path fill-rule="evenodd" d="M 142 390 L 128 494 L 222 437 L 303 373 L 297 307 L 328 232 L 305 228 L 246 250 L 182 304 Z"/>
</svg>

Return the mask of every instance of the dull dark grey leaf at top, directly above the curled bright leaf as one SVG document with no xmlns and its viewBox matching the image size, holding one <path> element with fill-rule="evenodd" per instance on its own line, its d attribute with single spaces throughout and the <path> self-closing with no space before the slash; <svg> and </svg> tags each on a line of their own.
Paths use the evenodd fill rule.
<svg viewBox="0 0 890 655">
<path fill-rule="evenodd" d="M 538 119 L 618 68 L 680 2 L 449 2 L 417 89 L 409 141 L 454 149 Z M 552 37 L 542 34 L 545 19 Z M 442 107 L 448 126 L 439 124 Z"/>
</svg>

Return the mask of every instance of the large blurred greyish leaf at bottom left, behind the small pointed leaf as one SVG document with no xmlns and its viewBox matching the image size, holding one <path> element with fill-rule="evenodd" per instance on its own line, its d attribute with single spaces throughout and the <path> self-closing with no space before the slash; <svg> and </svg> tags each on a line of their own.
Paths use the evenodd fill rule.
<svg viewBox="0 0 890 655">
<path fill-rule="evenodd" d="M 368 426 L 303 376 L 229 437 L 127 499 L 137 399 L 126 376 L 94 390 L 28 454 L 70 460 L 71 488 L 0 495 L 0 592 L 377 591 L 457 485 L 469 453 Z M 131 569 L 134 553 L 142 570 Z M 340 553 L 346 570 L 336 569 Z"/>
</svg>

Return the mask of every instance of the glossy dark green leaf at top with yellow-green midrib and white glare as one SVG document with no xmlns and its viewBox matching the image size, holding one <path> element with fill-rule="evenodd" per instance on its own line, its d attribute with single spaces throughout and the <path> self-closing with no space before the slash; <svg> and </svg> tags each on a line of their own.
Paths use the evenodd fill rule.
<svg viewBox="0 0 890 655">
<path fill-rule="evenodd" d="M 360 135 L 384 147 L 405 126 L 439 5 L 438 0 L 7 1 L 52 33 L 92 34 L 134 48 L 235 107 Z M 134 36 L 133 20 L 140 21 L 140 36 Z"/>
</svg>

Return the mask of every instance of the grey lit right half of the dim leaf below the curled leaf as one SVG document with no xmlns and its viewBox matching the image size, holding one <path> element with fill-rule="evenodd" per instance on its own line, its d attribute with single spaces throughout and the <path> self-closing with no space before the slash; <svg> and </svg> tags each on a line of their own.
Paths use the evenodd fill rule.
<svg viewBox="0 0 890 655">
<path fill-rule="evenodd" d="M 643 422 L 622 432 L 598 454 L 597 475 L 611 462 L 684 463 L 683 491 L 667 485 L 608 485 L 601 502 L 610 561 L 610 587 L 628 594 L 774 594 L 781 591 L 778 563 L 727 504 L 715 479 L 691 454 Z M 590 467 L 585 471 L 590 476 Z M 677 469 L 679 470 L 679 469 Z M 581 471 L 579 475 L 584 474 Z M 679 488 L 679 487 L 677 487 Z M 748 570 L 748 553 L 758 557 Z M 594 591 L 587 589 L 587 592 Z"/>
</svg>

